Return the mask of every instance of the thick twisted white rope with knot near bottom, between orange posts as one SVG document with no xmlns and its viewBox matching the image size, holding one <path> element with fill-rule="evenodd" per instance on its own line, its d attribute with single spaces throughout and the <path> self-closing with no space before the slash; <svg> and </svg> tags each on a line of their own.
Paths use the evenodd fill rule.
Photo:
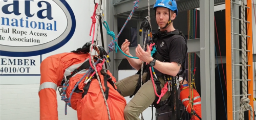
<svg viewBox="0 0 256 120">
<path fill-rule="evenodd" d="M 241 107 L 239 111 L 239 119 L 244 120 L 244 111 L 251 111 L 251 119 L 253 119 L 253 110 L 250 106 L 250 100 L 247 98 L 247 57 L 246 57 L 246 28 L 245 28 L 245 3 L 241 1 L 241 35 L 242 35 L 242 89 L 243 98 L 240 101 Z"/>
</svg>

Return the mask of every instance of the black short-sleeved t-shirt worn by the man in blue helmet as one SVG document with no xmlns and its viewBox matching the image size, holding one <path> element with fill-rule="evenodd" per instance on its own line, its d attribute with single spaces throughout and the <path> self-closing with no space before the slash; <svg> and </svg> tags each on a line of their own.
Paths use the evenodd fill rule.
<svg viewBox="0 0 256 120">
<path fill-rule="evenodd" d="M 185 63 L 185 57 L 187 54 L 187 45 L 185 39 L 181 35 L 170 35 L 169 33 L 179 33 L 179 30 L 172 32 L 161 32 L 158 31 L 157 35 L 157 52 L 165 59 L 167 62 L 178 62 L 182 66 Z M 181 67 L 182 68 L 182 67 Z M 159 76 L 161 73 L 154 68 L 155 73 Z"/>
</svg>

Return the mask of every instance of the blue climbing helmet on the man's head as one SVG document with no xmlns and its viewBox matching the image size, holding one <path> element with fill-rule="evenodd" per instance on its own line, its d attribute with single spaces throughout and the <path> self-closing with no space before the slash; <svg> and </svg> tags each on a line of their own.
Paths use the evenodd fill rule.
<svg viewBox="0 0 256 120">
<path fill-rule="evenodd" d="M 156 0 L 153 10 L 155 10 L 157 7 L 168 8 L 174 11 L 176 13 L 176 16 L 178 16 L 178 8 L 177 8 L 176 0 Z"/>
</svg>

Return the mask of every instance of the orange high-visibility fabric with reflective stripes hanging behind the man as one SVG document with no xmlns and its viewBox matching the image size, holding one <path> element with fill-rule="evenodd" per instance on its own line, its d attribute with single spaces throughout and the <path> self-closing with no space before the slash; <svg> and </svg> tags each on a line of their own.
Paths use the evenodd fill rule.
<svg viewBox="0 0 256 120">
<path fill-rule="evenodd" d="M 197 92 L 197 90 L 193 89 L 193 94 L 194 94 L 194 98 L 197 97 L 196 100 L 194 100 L 194 103 L 200 103 L 200 104 L 197 104 L 197 105 L 193 105 L 194 107 L 194 111 L 196 111 L 196 114 L 198 114 L 198 116 L 200 116 L 202 118 L 202 111 L 201 111 L 201 98 L 198 98 L 200 97 L 199 93 Z M 180 92 L 180 100 L 185 100 L 185 99 L 188 99 L 188 96 L 189 96 L 189 89 L 188 88 L 185 88 L 183 90 L 181 90 Z M 184 101 L 183 102 L 183 105 L 187 108 L 187 112 L 188 113 L 191 113 L 191 108 L 190 108 L 190 104 L 189 104 L 189 101 Z M 199 120 L 199 118 L 197 116 L 194 116 L 193 118 L 191 118 L 191 120 Z"/>
</svg>

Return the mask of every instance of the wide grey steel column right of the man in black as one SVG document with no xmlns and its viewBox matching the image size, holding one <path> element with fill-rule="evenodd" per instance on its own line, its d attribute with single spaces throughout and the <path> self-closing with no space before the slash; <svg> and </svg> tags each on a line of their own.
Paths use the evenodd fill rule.
<svg viewBox="0 0 256 120">
<path fill-rule="evenodd" d="M 202 119 L 216 119 L 214 1 L 200 0 Z"/>
</svg>

